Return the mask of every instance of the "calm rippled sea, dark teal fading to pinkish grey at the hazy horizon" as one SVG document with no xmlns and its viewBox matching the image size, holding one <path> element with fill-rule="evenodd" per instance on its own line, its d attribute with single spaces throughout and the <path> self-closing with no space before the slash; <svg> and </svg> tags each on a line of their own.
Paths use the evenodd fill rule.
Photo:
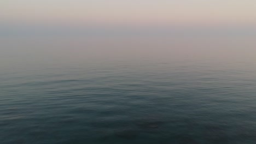
<svg viewBox="0 0 256 144">
<path fill-rule="evenodd" d="M 248 38 L 4 38 L 0 143 L 255 143 Z"/>
</svg>

